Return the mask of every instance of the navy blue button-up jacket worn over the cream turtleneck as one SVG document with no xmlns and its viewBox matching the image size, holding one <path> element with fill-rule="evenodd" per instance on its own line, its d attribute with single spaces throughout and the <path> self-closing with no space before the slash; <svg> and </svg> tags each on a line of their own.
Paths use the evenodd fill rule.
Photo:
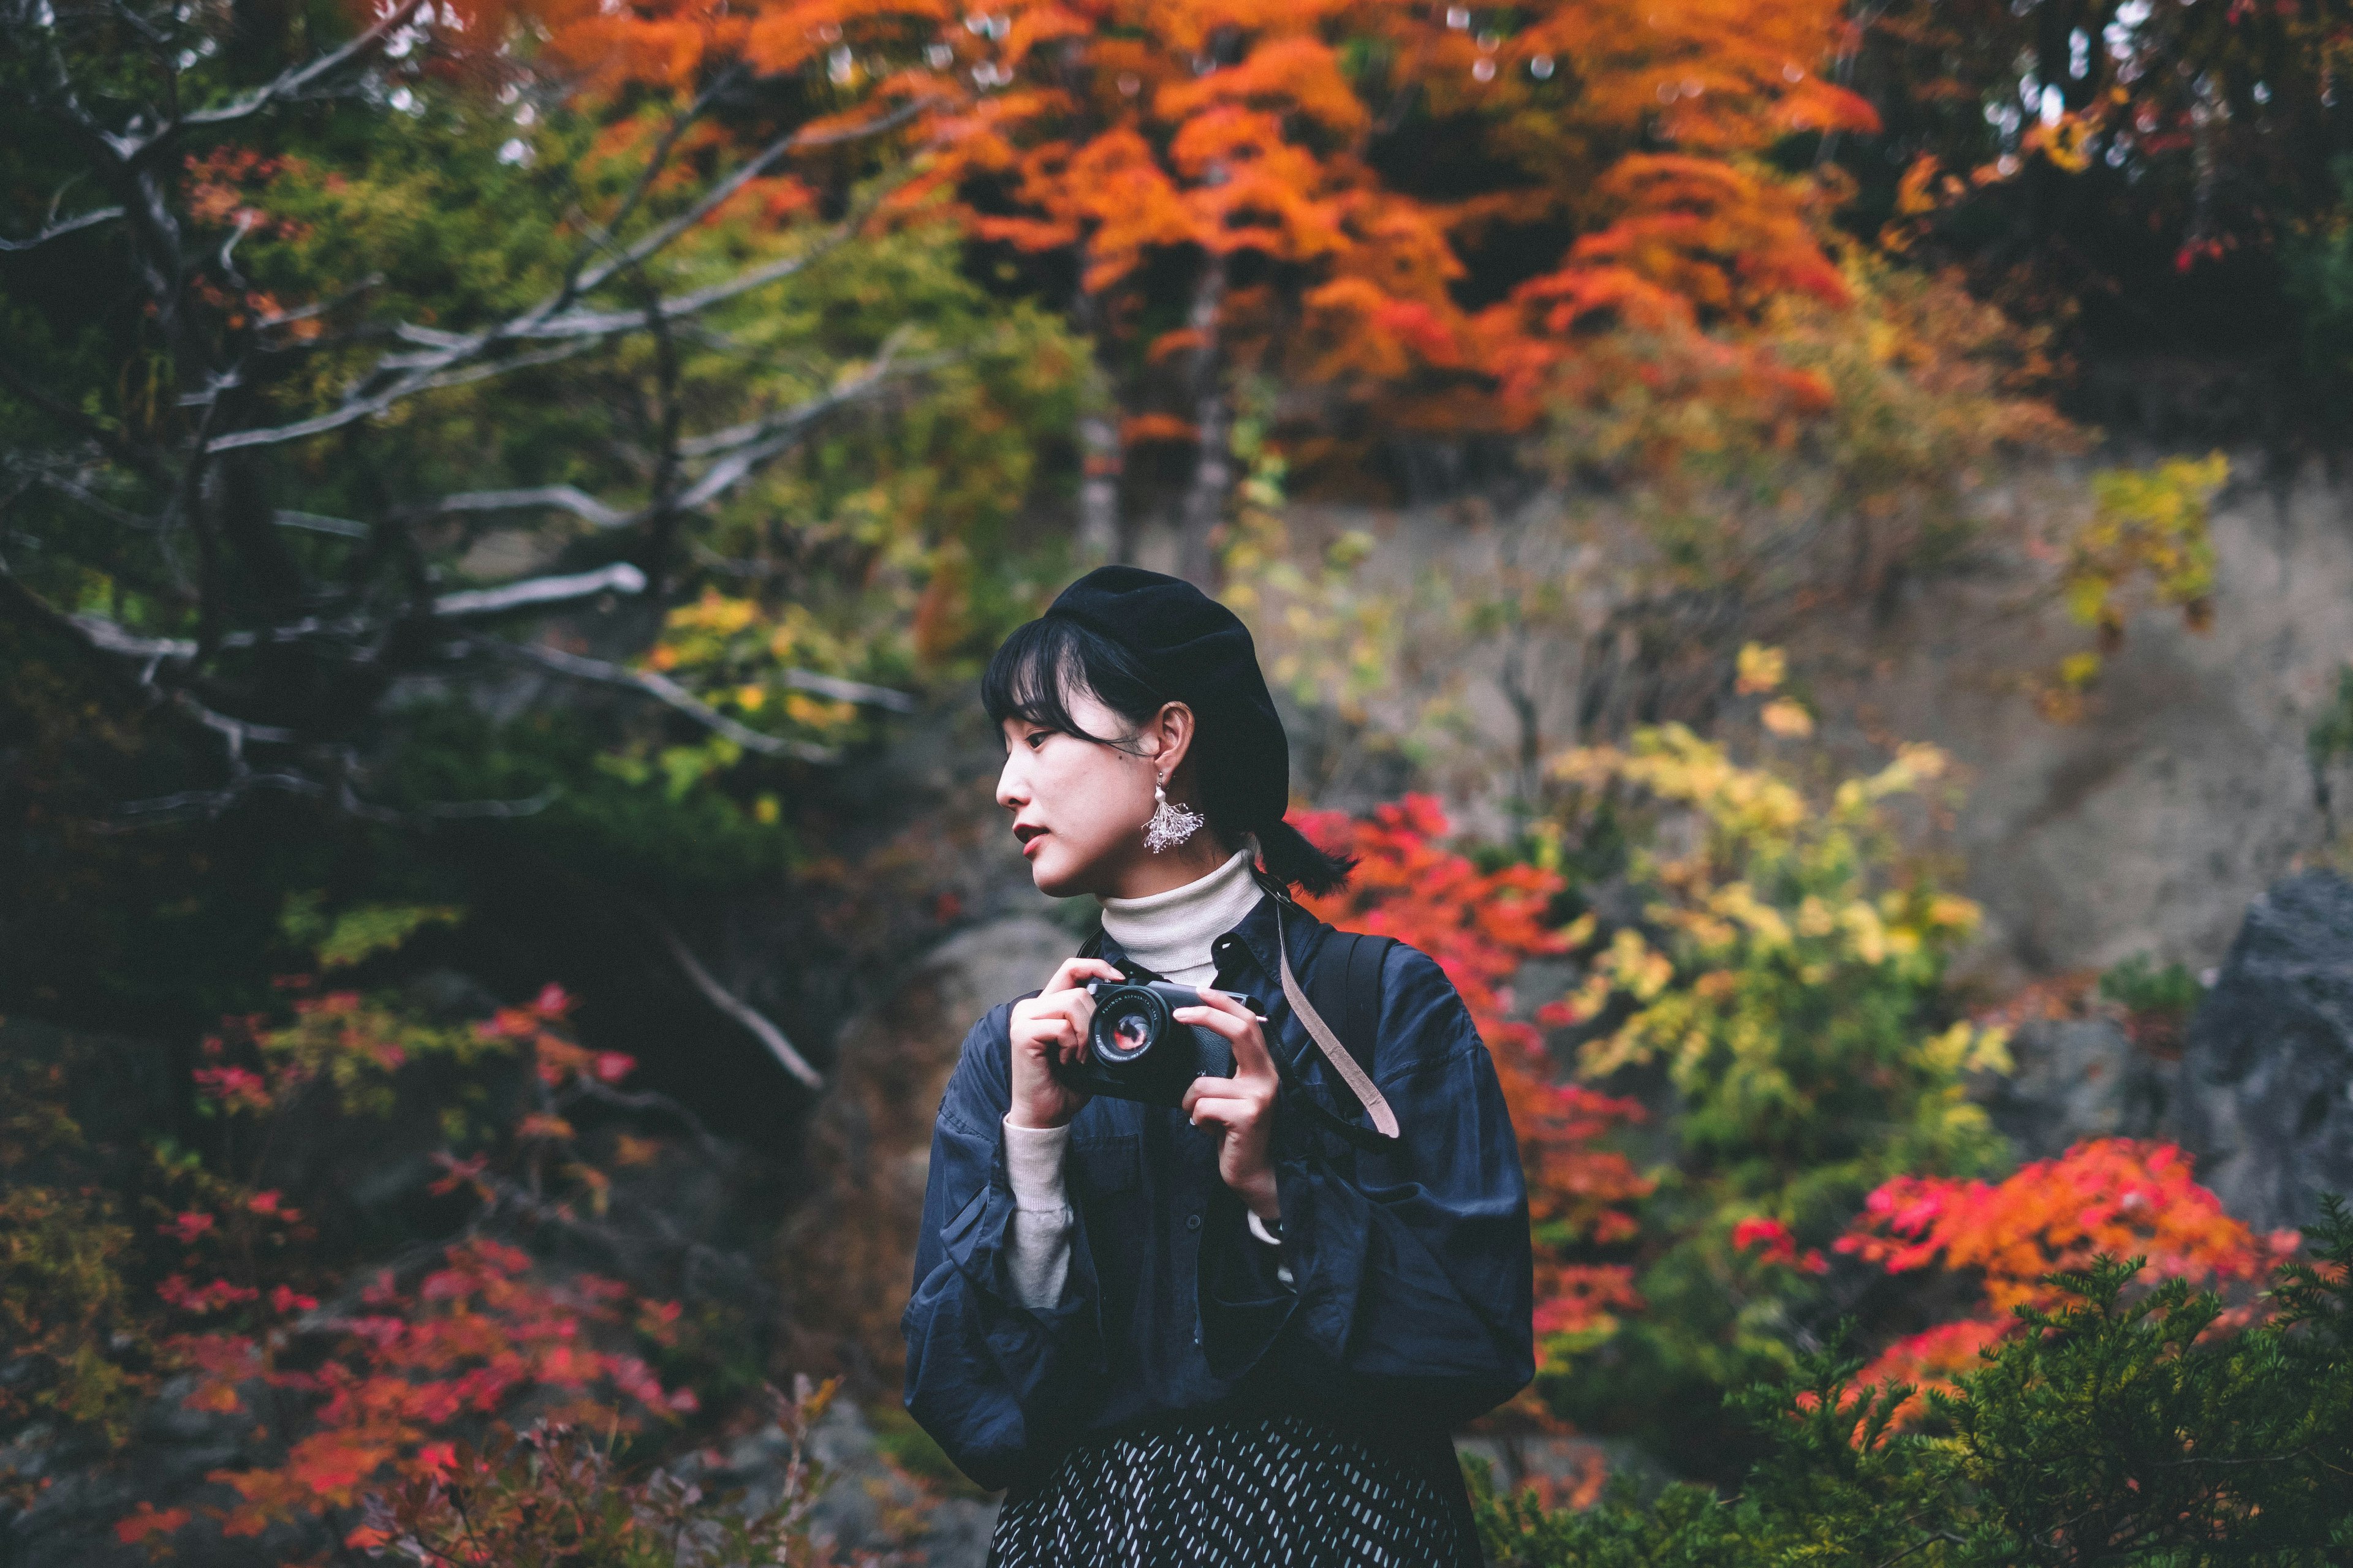
<svg viewBox="0 0 2353 1568">
<path fill-rule="evenodd" d="M 906 1408 L 979 1486 L 1021 1486 L 1082 1436 L 1179 1410 L 1289 1408 L 1435 1439 L 1534 1375 L 1527 1185 L 1468 1009 L 1428 954 L 1388 952 L 1379 1044 L 1360 1060 L 1400 1140 L 1355 1150 L 1289 1107 L 1308 1093 L 1365 1124 L 1282 997 L 1278 912 L 1313 992 L 1327 926 L 1297 905 L 1261 898 L 1212 954 L 1214 983 L 1259 1004 L 1297 1081 L 1271 1140 L 1289 1286 L 1219 1180 L 1214 1128 L 1096 1095 L 1064 1161 L 1075 1225 L 1061 1300 L 1019 1305 L 1005 1234 L 1012 1001 L 965 1037 L 901 1328 Z M 1108 936 L 1104 957 L 1125 957 Z"/>
</svg>

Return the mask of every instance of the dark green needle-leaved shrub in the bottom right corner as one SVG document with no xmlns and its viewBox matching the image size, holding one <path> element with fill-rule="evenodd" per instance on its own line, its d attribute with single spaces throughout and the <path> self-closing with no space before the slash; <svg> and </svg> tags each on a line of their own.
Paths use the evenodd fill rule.
<svg viewBox="0 0 2353 1568">
<path fill-rule="evenodd" d="M 2242 1333 L 2217 1333 L 2221 1298 L 2184 1279 L 2129 1291 L 2139 1258 L 2052 1274 L 2064 1305 L 2021 1307 L 2019 1333 L 1927 1394 L 1927 1432 L 1897 1425 L 1911 1385 L 1812 1354 L 1739 1399 L 1762 1453 L 1734 1497 L 1617 1486 L 1577 1514 L 1499 1495 L 1471 1462 L 1487 1552 L 1499 1568 L 2341 1563 L 2353 1215 L 2329 1199 L 2308 1237 L 2315 1258 L 2273 1272 L 2273 1316 Z"/>
</svg>

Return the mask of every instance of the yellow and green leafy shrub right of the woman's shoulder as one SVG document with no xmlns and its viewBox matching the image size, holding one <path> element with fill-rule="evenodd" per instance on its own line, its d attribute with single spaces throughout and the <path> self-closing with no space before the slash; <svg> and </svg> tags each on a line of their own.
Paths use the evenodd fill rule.
<svg viewBox="0 0 2353 1568">
<path fill-rule="evenodd" d="M 1809 729 L 1777 693 L 1779 656 L 1751 649 L 1741 672 L 1769 733 Z M 1941 769 L 1906 748 L 1817 802 L 1675 724 L 1555 764 L 1579 788 L 1562 839 L 1635 849 L 1631 896 L 1595 889 L 1572 933 L 1586 983 L 1541 1018 L 1584 1034 L 1591 1077 L 1671 1105 L 1671 1164 L 1635 1248 L 1647 1312 L 1548 1382 L 1562 1415 L 1737 1474 L 1722 1394 L 1788 1371 L 1826 1328 L 1821 1248 L 1864 1194 L 2000 1157 L 1962 1077 L 2007 1067 L 2002 1034 L 1953 1018 L 1944 994 L 1977 905 L 1908 867 L 1882 816 Z"/>
</svg>

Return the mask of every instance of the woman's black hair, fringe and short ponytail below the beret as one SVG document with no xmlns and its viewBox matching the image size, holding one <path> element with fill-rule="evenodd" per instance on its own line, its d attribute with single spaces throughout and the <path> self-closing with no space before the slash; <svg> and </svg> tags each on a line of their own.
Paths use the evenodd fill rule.
<svg viewBox="0 0 2353 1568">
<path fill-rule="evenodd" d="M 1089 733 L 1071 717 L 1073 691 L 1092 693 L 1132 724 L 1144 724 L 1162 703 L 1176 701 L 1134 654 L 1094 628 L 1061 616 L 1016 625 L 981 675 L 981 708 L 988 710 L 991 724 L 1024 719 L 1038 729 L 1127 750 L 1127 738 Z M 1304 893 L 1334 893 L 1355 870 L 1353 856 L 1327 856 L 1280 816 L 1271 823 L 1226 823 L 1209 811 L 1209 825 L 1228 844 L 1240 844 L 1245 832 L 1259 835 L 1266 875 Z"/>
</svg>

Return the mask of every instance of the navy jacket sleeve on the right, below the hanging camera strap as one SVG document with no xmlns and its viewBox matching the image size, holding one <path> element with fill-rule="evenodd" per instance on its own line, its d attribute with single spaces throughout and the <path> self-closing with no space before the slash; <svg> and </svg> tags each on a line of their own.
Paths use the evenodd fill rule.
<svg viewBox="0 0 2353 1568">
<path fill-rule="evenodd" d="M 1355 1152 L 1278 1112 L 1294 1286 L 1278 1288 L 1252 1255 L 1228 1194 L 1202 1269 L 1202 1349 L 1219 1375 L 1271 1361 L 1346 1406 L 1452 1427 L 1537 1373 L 1520 1145 L 1471 1011 L 1424 952 L 1391 950 L 1379 1041 L 1374 1077 L 1400 1145 Z"/>
</svg>

